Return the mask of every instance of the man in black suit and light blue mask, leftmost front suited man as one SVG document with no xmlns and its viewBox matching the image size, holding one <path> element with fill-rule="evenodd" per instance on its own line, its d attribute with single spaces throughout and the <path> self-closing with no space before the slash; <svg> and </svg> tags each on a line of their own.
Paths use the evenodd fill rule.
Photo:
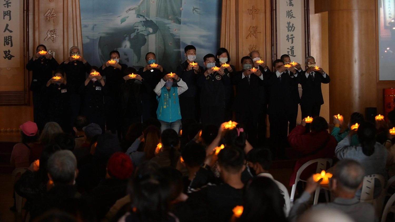
<svg viewBox="0 0 395 222">
<path fill-rule="evenodd" d="M 232 79 L 236 85 L 236 96 L 232 110 L 236 114 L 236 122 L 245 126 L 248 141 L 256 145 L 258 137 L 258 117 L 263 115 L 265 101 L 263 91 L 263 74 L 259 69 L 251 71 L 254 62 L 250 56 L 241 58 L 243 71 L 239 71 Z M 259 135 L 264 136 L 264 135 Z"/>
</svg>

